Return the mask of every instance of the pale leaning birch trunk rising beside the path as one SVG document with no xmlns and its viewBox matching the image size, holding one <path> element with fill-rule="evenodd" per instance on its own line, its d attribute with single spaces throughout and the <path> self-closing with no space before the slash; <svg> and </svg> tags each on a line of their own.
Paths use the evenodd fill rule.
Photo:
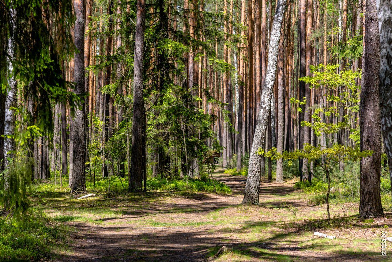
<svg viewBox="0 0 392 262">
<path fill-rule="evenodd" d="M 268 52 L 268 66 L 263 86 L 263 93 L 260 99 L 260 112 L 257 119 L 255 136 L 252 149 L 249 156 L 249 170 L 245 186 L 245 195 L 242 204 L 259 204 L 260 191 L 260 160 L 261 155 L 257 153 L 259 148 L 265 146 L 265 131 L 267 129 L 268 115 L 272 98 L 272 87 L 276 78 L 276 64 L 278 60 L 278 46 L 280 40 L 280 31 L 285 14 L 286 1 L 278 0 L 276 2 L 275 18 L 272 25 L 270 46 Z"/>
</svg>

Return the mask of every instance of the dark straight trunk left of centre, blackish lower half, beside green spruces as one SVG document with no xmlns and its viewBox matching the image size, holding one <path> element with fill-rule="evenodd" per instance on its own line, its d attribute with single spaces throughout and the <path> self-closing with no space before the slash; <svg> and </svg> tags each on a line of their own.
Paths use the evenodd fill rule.
<svg viewBox="0 0 392 262">
<path fill-rule="evenodd" d="M 143 48 L 145 29 L 145 0 L 138 0 L 136 10 L 136 35 L 133 73 L 133 116 L 132 116 L 132 152 L 131 169 L 129 176 L 129 189 L 134 191 L 142 188 L 142 177 L 144 173 L 143 165 L 143 145 L 142 145 L 142 125 L 144 121 L 144 101 L 143 101 Z"/>
</svg>

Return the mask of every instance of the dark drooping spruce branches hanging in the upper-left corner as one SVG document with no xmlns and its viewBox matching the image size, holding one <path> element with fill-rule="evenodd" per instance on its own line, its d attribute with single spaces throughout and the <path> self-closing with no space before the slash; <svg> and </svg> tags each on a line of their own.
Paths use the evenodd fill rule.
<svg viewBox="0 0 392 262">
<path fill-rule="evenodd" d="M 0 46 L 7 52 L 0 54 L 0 60 L 9 62 L 1 64 L 2 92 L 9 89 L 7 79 L 15 77 L 22 87 L 22 97 L 34 102 L 33 122 L 29 124 L 34 123 L 42 132 L 52 133 L 51 102 L 65 102 L 73 111 L 85 98 L 85 94 L 79 96 L 68 91 L 72 83 L 63 78 L 64 61 L 74 55 L 73 3 L 71 0 L 10 0 L 3 3 Z M 50 17 L 44 14 L 46 12 Z M 47 26 L 49 19 L 50 27 Z M 8 72 L 7 66 L 12 72 Z"/>
</svg>

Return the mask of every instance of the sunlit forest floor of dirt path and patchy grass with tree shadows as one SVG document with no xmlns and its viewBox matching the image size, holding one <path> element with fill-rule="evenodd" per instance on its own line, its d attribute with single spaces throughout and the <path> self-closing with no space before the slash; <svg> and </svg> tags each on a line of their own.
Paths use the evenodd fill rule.
<svg viewBox="0 0 392 262">
<path fill-rule="evenodd" d="M 382 231 L 392 237 L 390 217 L 360 221 L 358 204 L 336 204 L 327 226 L 326 205 L 310 205 L 294 180 L 263 181 L 261 205 L 241 206 L 246 177 L 213 175 L 232 194 L 41 196 L 39 209 L 70 229 L 71 249 L 58 250 L 54 261 L 392 261 L 392 243 L 387 256 L 380 244 Z M 222 246 L 231 251 L 213 258 Z"/>
</svg>

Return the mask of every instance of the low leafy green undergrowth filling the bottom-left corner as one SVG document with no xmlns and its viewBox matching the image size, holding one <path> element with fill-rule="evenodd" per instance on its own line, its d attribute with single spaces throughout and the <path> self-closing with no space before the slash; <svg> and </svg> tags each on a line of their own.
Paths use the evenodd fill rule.
<svg viewBox="0 0 392 262">
<path fill-rule="evenodd" d="M 49 226 L 50 220 L 42 213 L 35 214 L 22 227 L 0 218 L 0 260 L 31 261 L 49 256 L 53 249 L 65 242 L 65 231 Z"/>
</svg>

